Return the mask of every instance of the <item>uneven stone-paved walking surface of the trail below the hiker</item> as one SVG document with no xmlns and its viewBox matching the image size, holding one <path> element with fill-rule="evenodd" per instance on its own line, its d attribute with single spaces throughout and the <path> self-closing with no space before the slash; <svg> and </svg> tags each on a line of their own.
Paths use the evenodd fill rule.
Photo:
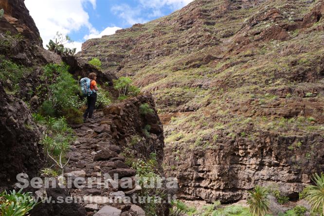
<svg viewBox="0 0 324 216">
<path fill-rule="evenodd" d="M 77 140 L 72 145 L 72 151 L 67 154 L 70 158 L 69 166 L 66 168 L 67 176 L 85 178 L 82 189 L 74 188 L 72 197 L 83 197 L 83 205 L 88 215 L 145 215 L 144 210 L 131 203 L 115 203 L 116 198 L 123 199 L 131 195 L 140 186 L 127 188 L 105 188 L 103 175 L 105 173 L 118 173 L 119 178 L 131 177 L 135 179 L 135 170 L 125 164 L 125 157 L 120 155 L 121 147 L 116 145 L 109 135 L 109 127 L 100 123 L 105 119 L 103 112 L 97 112 L 94 119 L 75 128 Z M 107 119 L 106 119 L 107 121 Z M 89 186 L 88 186 L 89 185 Z M 139 187 L 139 188 L 138 188 Z"/>
</svg>

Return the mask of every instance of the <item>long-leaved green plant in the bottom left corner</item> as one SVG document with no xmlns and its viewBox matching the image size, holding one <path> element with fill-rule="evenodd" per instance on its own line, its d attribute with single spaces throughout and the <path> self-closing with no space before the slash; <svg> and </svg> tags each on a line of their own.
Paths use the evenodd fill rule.
<svg viewBox="0 0 324 216">
<path fill-rule="evenodd" d="M 31 193 L 21 193 L 15 190 L 8 194 L 6 191 L 0 194 L 0 215 L 1 216 L 25 216 L 37 203 L 31 197 Z"/>
</svg>

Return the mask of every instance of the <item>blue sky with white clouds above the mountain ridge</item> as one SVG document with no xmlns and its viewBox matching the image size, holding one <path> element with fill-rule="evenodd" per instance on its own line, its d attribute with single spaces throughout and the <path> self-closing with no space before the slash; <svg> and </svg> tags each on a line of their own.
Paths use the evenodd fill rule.
<svg viewBox="0 0 324 216">
<path fill-rule="evenodd" d="M 135 23 L 169 15 L 192 0 L 25 0 L 46 47 L 56 32 L 69 35 L 65 47 L 81 50 L 90 38 L 112 35 Z"/>
</svg>

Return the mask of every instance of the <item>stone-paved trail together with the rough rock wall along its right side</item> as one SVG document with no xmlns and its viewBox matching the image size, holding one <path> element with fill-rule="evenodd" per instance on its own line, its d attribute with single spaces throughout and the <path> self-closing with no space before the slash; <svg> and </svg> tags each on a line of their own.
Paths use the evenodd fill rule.
<svg viewBox="0 0 324 216">
<path fill-rule="evenodd" d="M 76 140 L 71 145 L 71 151 L 66 154 L 66 160 L 70 158 L 70 161 L 64 167 L 64 177 L 70 189 L 69 193 L 66 191 L 65 194 L 69 194 L 81 205 L 63 208 L 61 215 L 145 215 L 140 204 L 134 204 L 134 197 L 137 196 L 136 192 L 141 190 L 141 186 L 135 183 L 136 170 L 126 165 L 125 161 L 129 160 L 130 156 L 125 157 L 123 150 L 127 147 L 132 152 L 132 160 L 145 160 L 151 152 L 155 152 L 157 172 L 161 172 L 159 167 L 161 168 L 164 143 L 163 129 L 156 111 L 143 115 L 140 113 L 142 104 L 154 108 L 151 95 L 140 95 L 110 105 L 96 112 L 94 118 L 87 123 L 73 126 Z M 143 128 L 147 124 L 151 125 L 149 136 L 143 134 Z M 130 145 L 134 136 L 141 139 Z M 107 174 L 109 181 L 105 181 Z M 114 176 L 116 174 L 118 178 Z M 62 194 L 61 191 L 55 190 L 46 192 L 53 198 Z M 55 212 L 55 206 L 53 209 Z M 40 211 L 43 210 L 36 208 L 33 213 L 42 215 Z"/>
</svg>

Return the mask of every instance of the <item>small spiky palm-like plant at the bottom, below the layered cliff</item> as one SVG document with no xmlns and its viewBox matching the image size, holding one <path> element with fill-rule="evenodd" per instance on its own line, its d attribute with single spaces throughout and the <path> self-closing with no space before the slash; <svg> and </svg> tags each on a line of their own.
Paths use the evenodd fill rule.
<svg viewBox="0 0 324 216">
<path fill-rule="evenodd" d="M 249 191 L 248 204 L 252 216 L 265 216 L 269 211 L 269 191 L 265 187 L 255 185 L 253 191 Z"/>
</svg>

